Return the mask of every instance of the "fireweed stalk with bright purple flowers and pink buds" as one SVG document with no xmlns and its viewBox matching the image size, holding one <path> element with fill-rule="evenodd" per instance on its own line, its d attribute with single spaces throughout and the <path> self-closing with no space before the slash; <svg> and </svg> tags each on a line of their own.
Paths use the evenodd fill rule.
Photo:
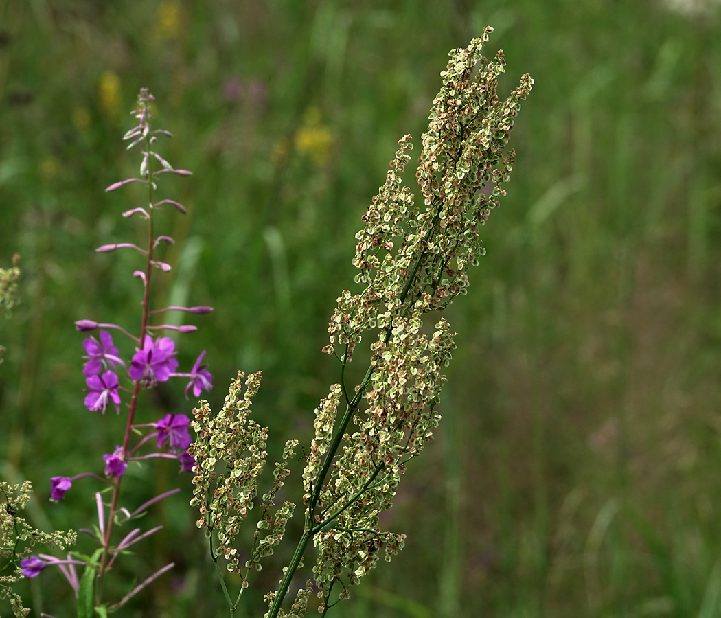
<svg viewBox="0 0 721 618">
<path fill-rule="evenodd" d="M 137 120 L 137 125 L 128 133 L 125 133 L 124 140 L 131 141 L 128 149 L 134 146 L 141 146 L 142 159 L 140 165 L 140 177 L 129 178 L 120 182 L 116 182 L 106 191 L 113 191 L 130 182 L 140 182 L 146 185 L 148 189 L 147 207 L 131 208 L 125 211 L 123 216 L 141 216 L 148 223 L 148 242 L 145 249 L 138 247 L 136 244 L 121 242 L 118 244 L 105 244 L 98 247 L 97 251 L 101 253 L 112 252 L 118 249 L 130 249 L 138 252 L 143 256 L 145 261 L 143 270 L 136 270 L 133 277 L 138 278 L 143 284 L 143 300 L 142 312 L 140 319 L 140 332 L 138 336 L 131 334 L 124 328 L 115 324 L 105 324 L 94 322 L 89 319 L 81 319 L 76 322 L 76 329 L 82 332 L 90 332 L 99 329 L 98 337 L 90 336 L 84 340 L 86 363 L 83 368 L 83 374 L 87 384 L 87 395 L 85 397 L 85 406 L 91 412 L 101 412 L 105 415 L 108 407 L 114 407 L 115 411 L 120 414 L 121 397 L 123 392 L 129 395 L 130 401 L 127 403 L 127 410 L 123 406 L 123 413 L 127 413 L 127 421 L 125 423 L 125 433 L 120 440 L 120 444 L 115 447 L 112 453 L 103 455 L 105 463 L 105 478 L 86 472 L 76 474 L 73 477 L 53 477 L 50 479 L 50 492 L 53 502 L 63 499 L 63 496 L 71 489 L 73 483 L 84 477 L 94 477 L 108 485 L 105 491 L 95 494 L 95 502 L 97 504 L 98 524 L 93 526 L 92 530 L 81 529 L 81 531 L 90 534 L 94 541 L 97 542 L 97 549 L 92 555 L 83 555 L 78 552 L 71 552 L 66 559 L 59 559 L 53 556 L 32 555 L 30 560 L 22 563 L 22 574 L 25 577 L 35 577 L 48 564 L 58 565 L 65 575 L 68 583 L 72 586 L 77 602 L 79 618 L 92 618 L 97 613 L 104 616 L 107 612 L 112 612 L 120 608 L 147 586 L 151 581 L 171 569 L 174 564 L 164 566 L 156 573 L 151 575 L 139 586 L 136 586 L 128 592 L 122 599 L 116 601 L 105 601 L 103 596 L 103 582 L 105 575 L 112 568 L 115 560 L 119 555 L 127 553 L 128 550 L 138 541 L 149 537 L 149 535 L 158 531 L 162 526 L 156 526 L 147 531 L 141 531 L 140 528 L 128 530 L 125 528 L 122 539 L 116 541 L 113 532 L 116 526 L 128 526 L 128 523 L 141 516 L 147 507 L 156 503 L 158 500 L 167 498 L 169 495 L 177 493 L 179 489 L 158 495 L 146 503 L 135 509 L 120 506 L 120 489 L 123 481 L 123 474 L 128 469 L 128 465 L 133 462 L 151 459 L 154 457 L 167 457 L 176 459 L 180 463 L 181 471 L 190 472 L 193 467 L 193 456 L 187 453 L 187 447 L 190 445 L 190 433 L 188 431 L 190 418 L 183 414 L 167 414 L 163 418 L 156 420 L 154 423 L 137 423 L 136 407 L 138 405 L 138 396 L 141 389 L 152 389 L 160 382 L 168 381 L 170 378 L 187 379 L 187 387 L 185 387 L 185 395 L 192 389 L 193 396 L 199 397 L 202 390 L 208 390 L 213 387 L 213 376 L 205 370 L 205 365 L 201 365 L 205 350 L 200 353 L 195 365 L 188 373 L 178 373 L 178 361 L 175 356 L 175 344 L 169 337 L 158 336 L 159 332 L 166 329 L 178 330 L 180 332 L 192 332 L 197 330 L 195 326 L 172 326 L 160 325 L 151 326 L 148 324 L 151 314 L 159 314 L 168 311 L 185 311 L 193 314 L 206 314 L 211 312 L 211 307 L 195 306 L 169 306 L 164 309 L 151 310 L 151 282 L 155 269 L 162 271 L 170 270 L 170 266 L 165 262 L 154 259 L 159 244 L 172 244 L 174 241 L 168 236 L 156 236 L 154 229 L 154 212 L 156 208 L 162 206 L 174 206 L 180 213 L 187 213 L 182 204 L 174 200 L 162 199 L 156 200 L 154 192 L 156 191 L 156 177 L 164 173 L 171 173 L 180 176 L 188 176 L 190 172 L 184 169 L 174 169 L 165 159 L 157 154 L 152 148 L 158 140 L 159 136 L 170 136 L 170 133 L 160 129 L 151 130 L 151 102 L 154 100 L 152 94 L 147 89 L 142 89 L 138 97 L 138 105 L 136 110 L 132 112 Z M 123 360 L 118 353 L 118 348 L 110 335 L 110 330 L 117 330 L 123 335 L 130 337 L 136 344 L 136 352 L 133 354 L 129 362 Z M 124 384 L 128 384 L 126 388 Z M 131 444 L 131 437 L 138 436 L 135 443 Z M 150 452 L 147 452 L 152 447 Z M 103 495 L 105 494 L 105 496 Z M 109 495 L 109 499 L 108 499 Z M 76 572 L 76 565 L 84 568 L 81 576 Z"/>
</svg>

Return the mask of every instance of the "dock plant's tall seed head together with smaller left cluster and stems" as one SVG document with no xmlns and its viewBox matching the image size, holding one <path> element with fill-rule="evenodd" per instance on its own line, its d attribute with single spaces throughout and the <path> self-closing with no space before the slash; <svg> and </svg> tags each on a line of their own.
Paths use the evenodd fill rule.
<svg viewBox="0 0 721 618">
<path fill-rule="evenodd" d="M 410 189 L 402 187 L 412 148 L 405 136 L 355 235 L 355 283 L 363 289 L 343 291 L 330 321 L 323 351 L 337 358 L 340 379 L 315 410 L 315 437 L 303 472 L 304 531 L 280 586 L 265 595 L 266 618 L 303 616 L 314 591 L 325 615 L 348 599 L 350 586 L 376 566 L 381 552 L 389 561 L 404 545 L 404 534 L 381 531 L 378 516 L 391 508 L 407 463 L 433 438 L 446 379 L 441 371 L 455 347 L 446 319 L 438 319 L 430 336 L 422 332 L 423 319 L 466 293 L 469 267 L 485 254 L 479 226 L 505 195 L 514 152 L 504 155 L 503 147 L 533 84 L 526 74 L 507 100 L 498 99 L 505 61 L 503 51 L 493 60 L 482 56 L 490 32 L 487 27 L 467 48 L 451 50 L 441 73 L 416 172 L 425 208 L 415 206 Z M 373 341 L 371 363 L 361 382 L 349 387 L 346 367 L 366 332 Z M 191 505 L 200 510 L 198 527 L 205 529 L 231 617 L 252 571 L 273 554 L 296 509 L 287 501 L 275 504 L 298 446 L 289 440 L 275 464 L 273 485 L 262 495 L 249 558 L 241 563 L 234 539 L 255 504 L 266 458 L 267 428 L 249 418 L 259 387 L 260 372 L 245 380 L 239 373 L 218 413 L 200 402 L 193 410 L 197 437 L 188 449 L 195 457 Z M 311 541 L 317 548 L 314 582 L 300 588 L 286 612 L 281 604 Z M 218 568 L 221 556 L 227 570 L 242 578 L 235 601 Z"/>
</svg>

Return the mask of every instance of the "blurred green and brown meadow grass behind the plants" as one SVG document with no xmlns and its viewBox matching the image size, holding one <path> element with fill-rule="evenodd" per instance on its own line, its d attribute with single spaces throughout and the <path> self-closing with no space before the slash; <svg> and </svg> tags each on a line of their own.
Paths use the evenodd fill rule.
<svg viewBox="0 0 721 618">
<path fill-rule="evenodd" d="M 261 369 L 255 418 L 270 426 L 273 458 L 288 437 L 309 441 L 312 411 L 337 379 L 320 348 L 336 296 L 353 286 L 353 234 L 397 139 L 412 133 L 420 144 L 448 50 L 492 25 L 489 55 L 503 48 L 508 61 L 501 92 L 525 72 L 536 82 L 512 134 L 508 198 L 483 229 L 488 253 L 469 295 L 447 312 L 459 347 L 438 440 L 384 519 L 408 534 L 406 548 L 334 614 L 720 616 L 715 7 L 0 3 L 0 265 L 19 252 L 23 269 L 21 304 L 0 324 L 0 474 L 33 482 L 30 519 L 88 526 L 94 482 L 77 482 L 55 506 L 48 478 L 99 472 L 123 431 L 122 418 L 82 405 L 73 322 L 137 330 L 136 257 L 93 250 L 142 239 L 143 227 L 120 217 L 141 193 L 103 192 L 137 173 L 120 136 L 138 89 L 151 89 L 159 126 L 174 133 L 162 154 L 194 172 L 160 183 L 189 215 L 159 217 L 177 243 L 155 306 L 216 307 L 190 318 L 200 330 L 180 337 L 181 366 L 207 350 L 214 408 L 238 369 Z M 298 131 L 315 136 L 310 149 Z M 416 187 L 413 170 L 405 176 Z M 141 418 L 189 412 L 183 386 L 152 393 Z M 187 507 L 190 479 L 176 470 L 158 461 L 124 482 L 128 506 L 182 492 L 151 509 L 143 526 L 164 531 L 122 561 L 111 593 L 170 560 L 177 567 L 123 615 L 226 615 Z M 275 586 L 271 566 L 261 595 Z M 36 612 L 74 615 L 57 572 L 18 590 Z M 262 615 L 260 596 L 245 603 L 240 615 Z"/>
</svg>

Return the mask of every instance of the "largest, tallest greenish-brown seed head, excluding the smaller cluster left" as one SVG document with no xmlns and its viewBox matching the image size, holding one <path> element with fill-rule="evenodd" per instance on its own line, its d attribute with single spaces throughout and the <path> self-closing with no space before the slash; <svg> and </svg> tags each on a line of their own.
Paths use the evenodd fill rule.
<svg viewBox="0 0 721 618">
<path fill-rule="evenodd" d="M 356 430 L 344 436 L 340 457 L 319 492 L 320 524 L 332 520 L 314 537 L 319 558 L 314 573 L 319 596 L 327 602 L 329 589 L 345 579 L 354 585 L 376 563 L 385 548 L 386 560 L 403 547 L 404 535 L 382 532 L 378 514 L 392 506 L 406 462 L 417 456 L 440 415 L 435 406 L 445 381 L 443 366 L 455 347 L 454 333 L 441 318 L 432 334 L 423 332 L 425 314 L 441 311 L 469 284 L 469 265 L 485 250 L 478 228 L 485 224 L 498 198 L 505 195 L 513 167 L 513 151 L 503 146 L 513 128 L 520 101 L 531 91 L 525 75 L 504 102 L 496 94 L 497 77 L 505 72 L 503 52 L 494 60 L 482 56 L 492 29 L 465 49 L 451 51 L 441 74 L 441 92 L 430 112 L 428 131 L 416 178 L 425 208 L 415 206 L 401 175 L 410 162 L 410 136 L 399 141 L 386 182 L 362 217 L 363 228 L 353 265 L 360 271 L 359 293 L 344 291 L 328 327 L 327 353 L 344 364 L 366 331 L 375 331 L 371 344 L 371 374 L 356 387 L 365 394 L 366 407 L 352 408 Z M 394 247 L 398 247 L 394 250 Z M 306 467 L 309 481 L 319 468 L 317 453 L 327 447 L 335 424 L 340 386 L 316 411 L 316 437 Z M 359 402 L 358 402 L 359 403 Z M 345 596 L 347 590 L 341 592 Z"/>
</svg>

